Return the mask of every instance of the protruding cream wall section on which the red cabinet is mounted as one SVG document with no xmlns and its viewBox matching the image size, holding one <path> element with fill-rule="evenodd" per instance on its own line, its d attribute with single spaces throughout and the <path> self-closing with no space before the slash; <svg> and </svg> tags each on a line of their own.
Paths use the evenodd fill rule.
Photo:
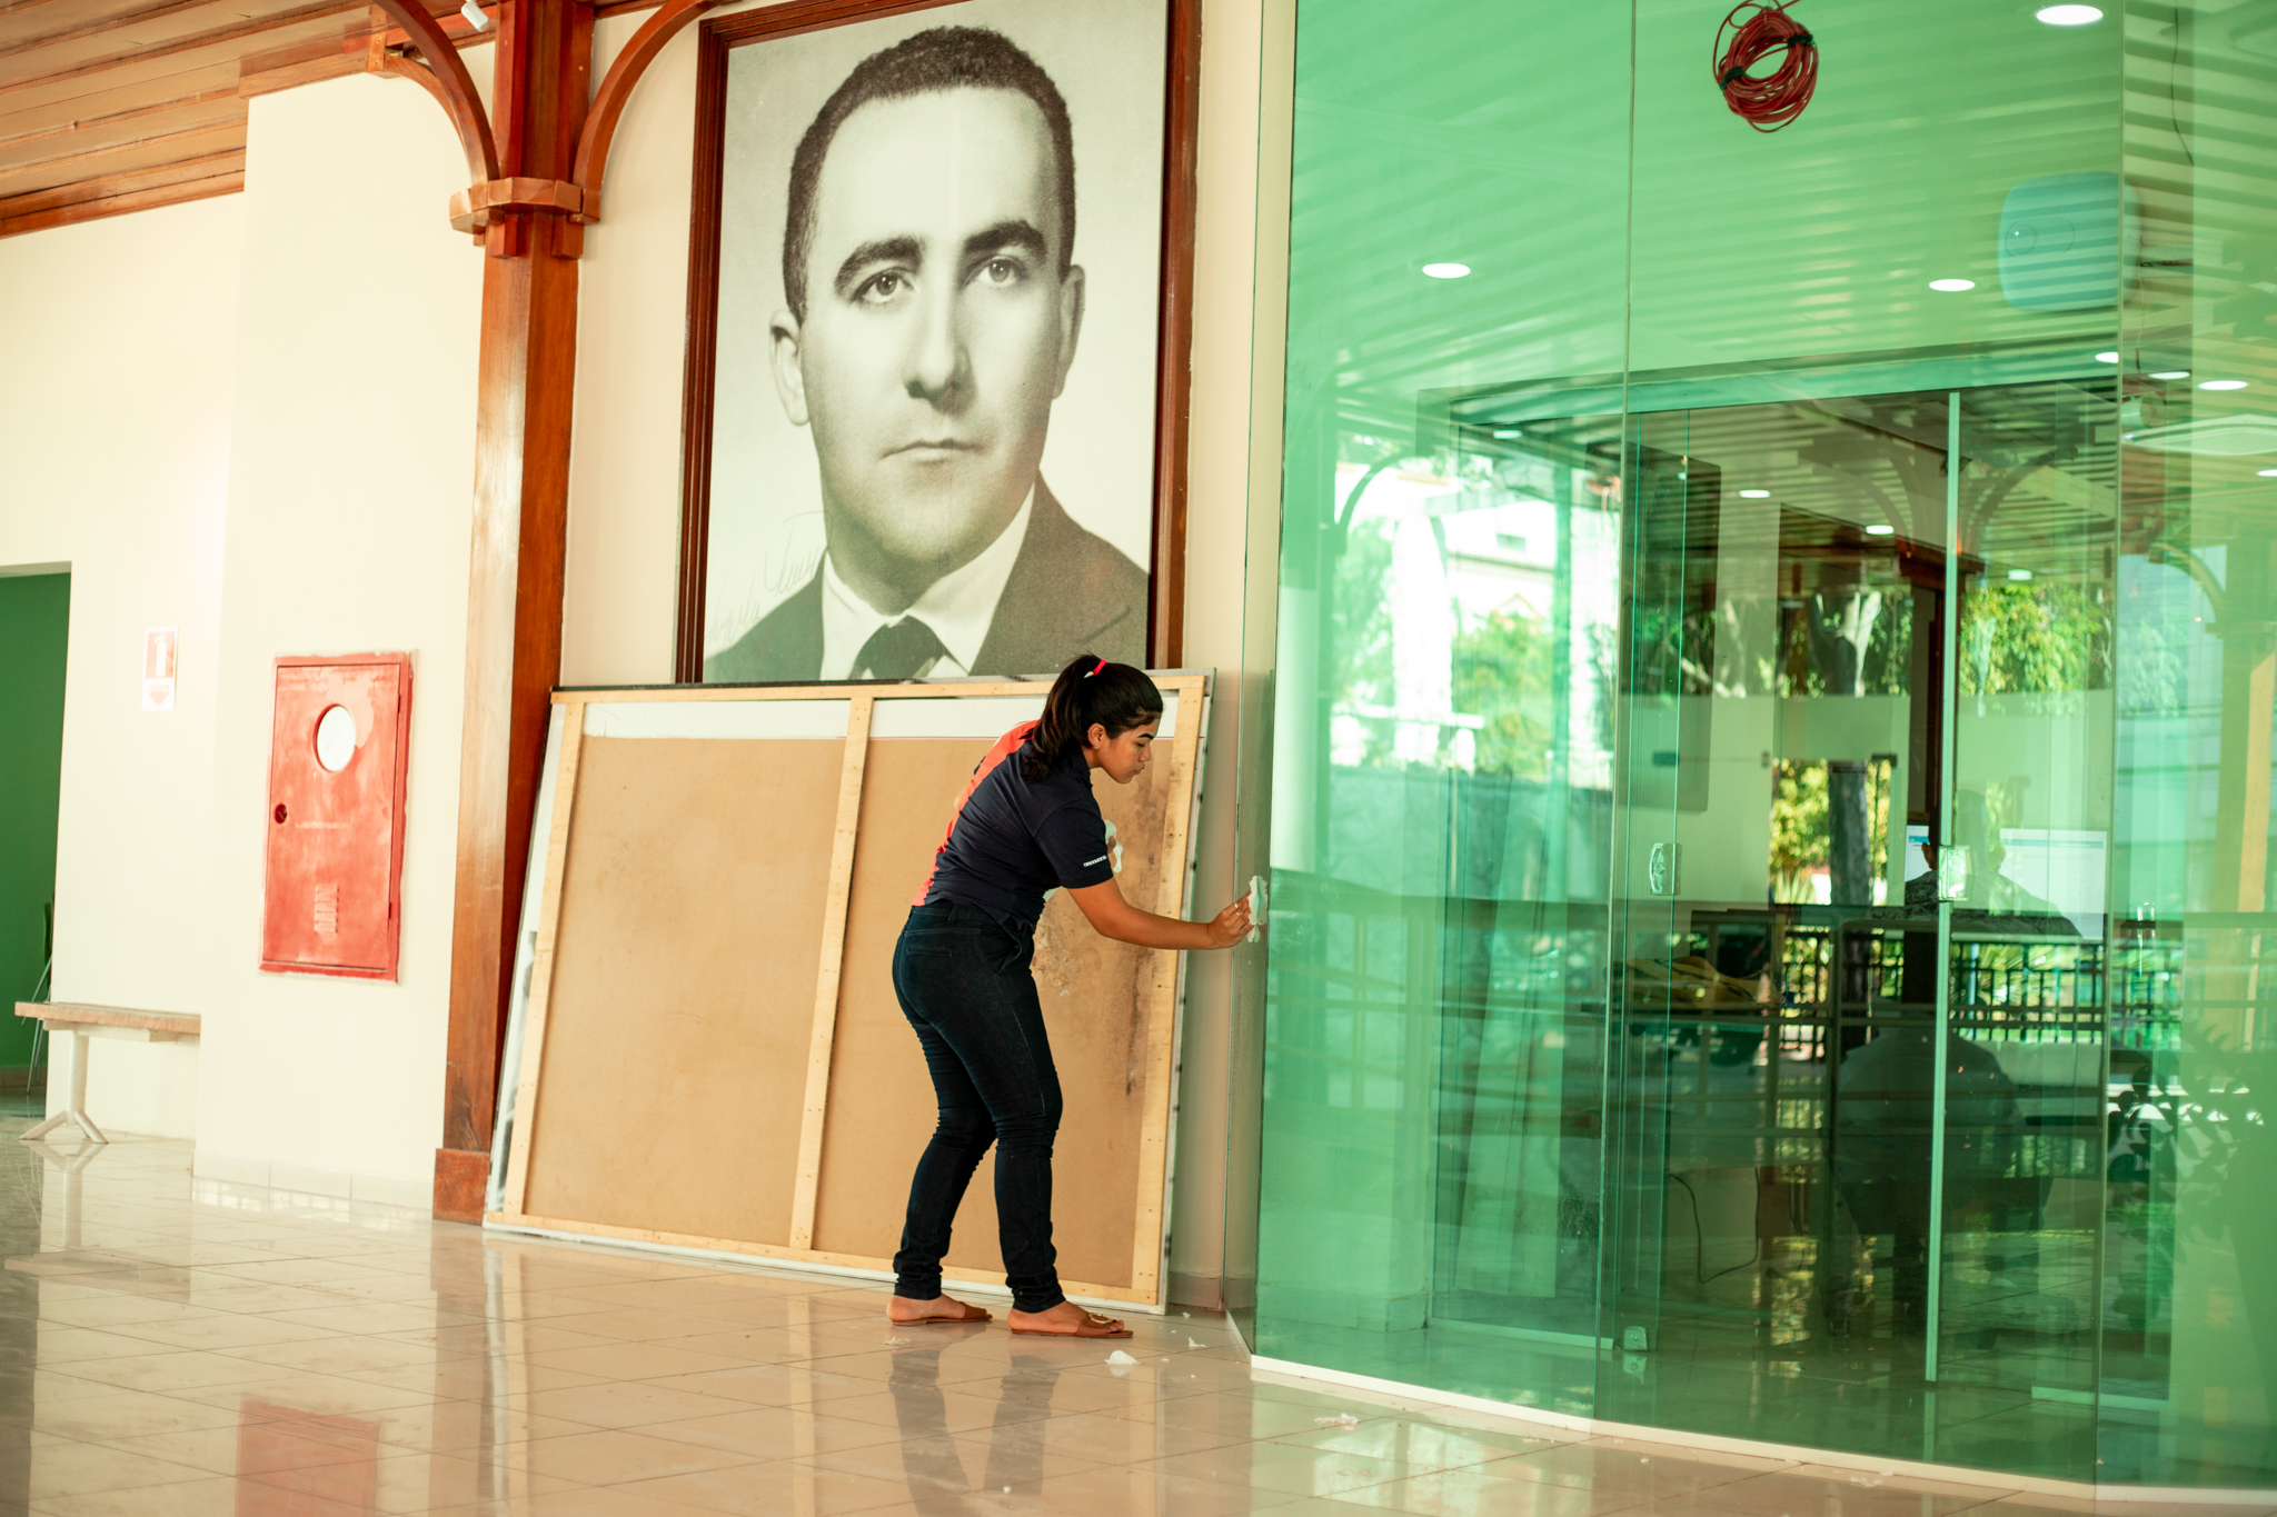
<svg viewBox="0 0 2277 1517">
<path fill-rule="evenodd" d="M 200 1176 L 430 1196 L 483 289 L 480 250 L 444 221 L 465 177 L 435 100 L 403 82 L 360 75 L 253 100 Z M 401 980 L 260 973 L 271 660 L 357 650 L 414 660 Z"/>
</svg>

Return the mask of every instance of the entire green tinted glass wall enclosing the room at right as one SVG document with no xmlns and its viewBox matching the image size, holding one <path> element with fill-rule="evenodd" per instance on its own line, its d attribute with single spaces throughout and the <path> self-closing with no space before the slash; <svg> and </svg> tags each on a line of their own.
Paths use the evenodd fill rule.
<svg viewBox="0 0 2277 1517">
<path fill-rule="evenodd" d="M 1721 16 L 1300 2 L 1248 1326 L 2277 1483 L 2277 30 Z"/>
</svg>

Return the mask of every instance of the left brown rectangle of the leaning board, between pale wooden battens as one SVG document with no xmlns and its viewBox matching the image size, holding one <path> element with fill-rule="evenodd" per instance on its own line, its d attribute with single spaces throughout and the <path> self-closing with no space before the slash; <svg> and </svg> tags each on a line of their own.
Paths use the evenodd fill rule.
<svg viewBox="0 0 2277 1517">
<path fill-rule="evenodd" d="M 583 739 L 526 1212 L 788 1242 L 842 766 L 842 739 Z"/>
</svg>

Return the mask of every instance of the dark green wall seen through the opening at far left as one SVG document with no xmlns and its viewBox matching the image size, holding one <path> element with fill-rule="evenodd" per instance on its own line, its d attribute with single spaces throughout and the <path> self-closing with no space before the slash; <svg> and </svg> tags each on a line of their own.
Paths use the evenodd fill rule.
<svg viewBox="0 0 2277 1517">
<path fill-rule="evenodd" d="M 68 628 L 68 573 L 0 578 L 0 1010 L 30 1001 L 48 962 Z M 32 1023 L 0 1019 L 0 1069 L 30 1055 Z"/>
</svg>

